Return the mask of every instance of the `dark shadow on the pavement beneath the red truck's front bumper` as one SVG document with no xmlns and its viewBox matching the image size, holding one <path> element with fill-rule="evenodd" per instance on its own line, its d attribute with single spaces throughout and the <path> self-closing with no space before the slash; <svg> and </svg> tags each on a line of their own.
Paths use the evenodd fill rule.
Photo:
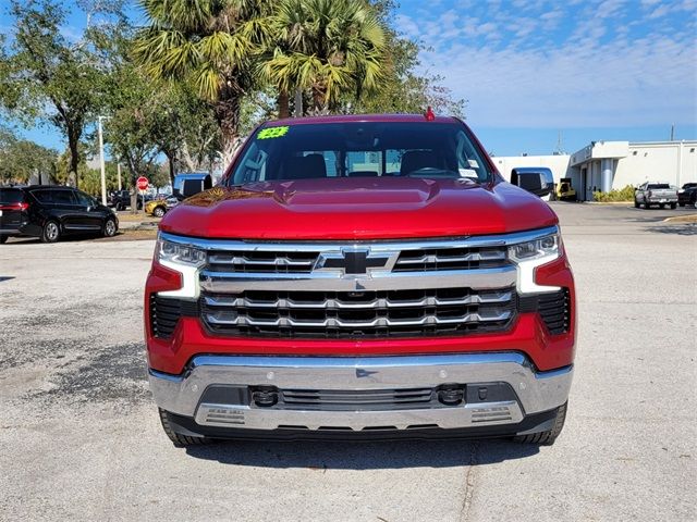
<svg viewBox="0 0 697 522">
<path fill-rule="evenodd" d="M 453 468 L 523 459 L 539 447 L 504 439 L 389 442 L 225 442 L 186 448 L 191 457 L 255 468 L 378 470 Z"/>
</svg>

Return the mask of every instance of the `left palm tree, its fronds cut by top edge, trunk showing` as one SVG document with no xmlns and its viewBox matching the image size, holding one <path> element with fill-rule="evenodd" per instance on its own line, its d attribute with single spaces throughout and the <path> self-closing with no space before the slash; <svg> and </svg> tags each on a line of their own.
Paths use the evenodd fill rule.
<svg viewBox="0 0 697 522">
<path fill-rule="evenodd" d="M 192 82 L 212 104 L 228 163 L 239 145 L 240 104 L 268 47 L 272 0 L 142 0 L 149 18 L 134 55 L 155 78 Z"/>
</svg>

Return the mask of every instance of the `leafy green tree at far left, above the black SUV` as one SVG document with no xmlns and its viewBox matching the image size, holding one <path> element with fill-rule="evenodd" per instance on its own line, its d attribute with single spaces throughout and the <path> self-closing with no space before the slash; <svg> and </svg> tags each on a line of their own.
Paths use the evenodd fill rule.
<svg viewBox="0 0 697 522">
<path fill-rule="evenodd" d="M 0 104 L 25 124 L 37 119 L 68 140 L 70 173 L 78 183 L 80 140 L 99 104 L 101 71 L 89 46 L 61 33 L 65 11 L 53 0 L 12 0 L 16 32 L 0 55 Z"/>
</svg>

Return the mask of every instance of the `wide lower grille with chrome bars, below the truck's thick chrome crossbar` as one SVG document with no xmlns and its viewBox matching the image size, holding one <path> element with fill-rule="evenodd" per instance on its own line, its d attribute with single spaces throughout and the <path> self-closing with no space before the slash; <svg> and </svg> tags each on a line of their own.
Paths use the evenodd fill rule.
<svg viewBox="0 0 697 522">
<path fill-rule="evenodd" d="M 230 335 L 360 338 L 500 332 L 515 290 L 265 291 L 201 297 L 201 319 Z"/>
</svg>

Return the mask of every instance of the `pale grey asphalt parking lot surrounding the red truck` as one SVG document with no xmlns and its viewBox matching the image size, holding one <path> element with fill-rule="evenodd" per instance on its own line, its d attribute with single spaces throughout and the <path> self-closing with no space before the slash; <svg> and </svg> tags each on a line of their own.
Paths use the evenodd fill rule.
<svg viewBox="0 0 697 522">
<path fill-rule="evenodd" d="M 176 449 L 145 380 L 154 241 L 0 247 L 0 520 L 697 519 L 697 224 L 552 203 L 578 288 L 566 426 Z"/>
</svg>

